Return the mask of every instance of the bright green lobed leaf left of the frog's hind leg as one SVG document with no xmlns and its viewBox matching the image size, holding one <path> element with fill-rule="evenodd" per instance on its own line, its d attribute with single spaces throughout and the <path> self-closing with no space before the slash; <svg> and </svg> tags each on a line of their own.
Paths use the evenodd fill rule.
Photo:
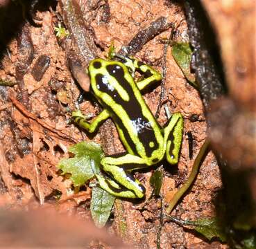
<svg viewBox="0 0 256 249">
<path fill-rule="evenodd" d="M 58 163 L 63 174 L 71 174 L 74 186 L 85 184 L 86 181 L 99 174 L 103 151 L 95 142 L 79 142 L 69 147 L 74 158 L 64 158 Z"/>
</svg>

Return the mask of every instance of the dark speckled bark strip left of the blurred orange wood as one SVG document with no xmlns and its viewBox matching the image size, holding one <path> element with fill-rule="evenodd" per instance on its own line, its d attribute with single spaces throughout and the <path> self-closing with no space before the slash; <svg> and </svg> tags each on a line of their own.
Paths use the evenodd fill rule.
<svg viewBox="0 0 256 249">
<path fill-rule="evenodd" d="M 189 39 L 194 49 L 191 68 L 200 86 L 205 108 L 227 93 L 219 43 L 209 17 L 199 0 L 185 1 Z"/>
</svg>

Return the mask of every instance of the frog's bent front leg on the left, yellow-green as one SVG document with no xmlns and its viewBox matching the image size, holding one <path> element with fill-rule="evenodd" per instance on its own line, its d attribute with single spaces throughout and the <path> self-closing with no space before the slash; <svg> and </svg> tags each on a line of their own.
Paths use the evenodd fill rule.
<svg viewBox="0 0 256 249">
<path fill-rule="evenodd" d="M 72 112 L 72 118 L 74 118 L 74 121 L 79 124 L 80 127 L 86 129 L 89 131 L 89 133 L 94 133 L 96 129 L 99 127 L 99 125 L 108 119 L 110 117 L 110 113 L 105 109 L 99 113 L 96 118 L 92 121 L 92 123 L 89 123 L 86 121 L 85 116 L 80 111 L 73 111 Z"/>
</svg>

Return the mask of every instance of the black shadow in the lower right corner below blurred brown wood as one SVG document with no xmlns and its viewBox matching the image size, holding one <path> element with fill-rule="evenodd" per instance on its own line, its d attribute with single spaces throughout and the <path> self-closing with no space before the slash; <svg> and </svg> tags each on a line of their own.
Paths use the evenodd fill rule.
<svg viewBox="0 0 256 249">
<path fill-rule="evenodd" d="M 227 234 L 229 245 L 244 246 L 244 240 L 256 239 L 256 230 L 253 228 L 256 207 L 248 185 L 248 175 L 252 172 L 231 171 L 221 159 L 219 165 L 223 190 L 214 200 L 216 216 Z"/>
</svg>

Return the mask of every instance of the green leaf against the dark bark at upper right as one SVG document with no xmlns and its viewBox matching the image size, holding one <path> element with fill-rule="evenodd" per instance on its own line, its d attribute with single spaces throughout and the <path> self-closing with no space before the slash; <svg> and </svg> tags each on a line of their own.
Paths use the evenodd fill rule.
<svg viewBox="0 0 256 249">
<path fill-rule="evenodd" d="M 174 43 L 171 53 L 178 66 L 180 66 L 180 69 L 182 70 L 182 73 L 184 73 L 186 79 L 192 86 L 194 86 L 195 89 L 198 89 L 195 76 L 190 71 L 190 62 L 193 51 L 191 50 L 189 43 Z"/>
</svg>

